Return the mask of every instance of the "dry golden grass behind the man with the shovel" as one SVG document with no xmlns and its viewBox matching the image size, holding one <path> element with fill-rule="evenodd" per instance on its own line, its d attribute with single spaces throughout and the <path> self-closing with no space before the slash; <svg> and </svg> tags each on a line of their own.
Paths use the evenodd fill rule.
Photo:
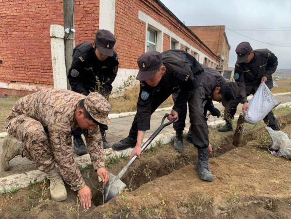
<svg viewBox="0 0 291 219">
<path fill-rule="evenodd" d="M 110 97 L 109 103 L 112 107 L 110 113 L 130 112 L 136 111 L 136 103 L 138 94 L 140 92 L 140 85 L 137 84 L 126 90 L 121 97 Z M 173 106 L 172 96 L 169 96 L 159 108 Z"/>
</svg>

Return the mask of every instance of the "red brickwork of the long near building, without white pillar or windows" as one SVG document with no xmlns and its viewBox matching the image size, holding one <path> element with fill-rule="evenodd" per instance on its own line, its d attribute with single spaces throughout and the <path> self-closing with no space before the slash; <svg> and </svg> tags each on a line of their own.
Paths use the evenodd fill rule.
<svg viewBox="0 0 291 219">
<path fill-rule="evenodd" d="M 49 26 L 63 25 L 63 0 L 0 1 L 0 82 L 52 85 Z M 216 60 L 211 51 L 155 0 L 116 0 L 115 37 L 121 68 L 137 69 L 145 52 L 146 24 L 138 10 Z M 99 0 L 75 0 L 76 45 L 95 38 Z M 164 35 L 163 49 L 170 48 Z M 184 47 L 185 49 L 185 47 Z"/>
</svg>

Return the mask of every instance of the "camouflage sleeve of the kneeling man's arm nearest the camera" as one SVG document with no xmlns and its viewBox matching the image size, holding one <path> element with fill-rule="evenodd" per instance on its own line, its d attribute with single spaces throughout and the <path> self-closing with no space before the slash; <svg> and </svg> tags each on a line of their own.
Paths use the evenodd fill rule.
<svg viewBox="0 0 291 219">
<path fill-rule="evenodd" d="M 48 129 L 54 159 L 59 165 L 63 179 L 74 191 L 83 188 L 85 181 L 73 158 L 70 126 L 65 123 L 59 123 L 49 125 Z"/>
</svg>

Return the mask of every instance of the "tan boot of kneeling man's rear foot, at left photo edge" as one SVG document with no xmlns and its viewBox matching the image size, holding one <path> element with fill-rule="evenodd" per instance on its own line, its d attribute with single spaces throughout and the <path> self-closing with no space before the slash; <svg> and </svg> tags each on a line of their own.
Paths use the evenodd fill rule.
<svg viewBox="0 0 291 219">
<path fill-rule="evenodd" d="M 1 164 L 4 171 L 9 170 L 10 160 L 12 160 L 17 155 L 21 155 L 21 144 L 21 142 L 17 141 L 12 136 L 7 136 L 4 139 L 1 154 Z"/>
</svg>

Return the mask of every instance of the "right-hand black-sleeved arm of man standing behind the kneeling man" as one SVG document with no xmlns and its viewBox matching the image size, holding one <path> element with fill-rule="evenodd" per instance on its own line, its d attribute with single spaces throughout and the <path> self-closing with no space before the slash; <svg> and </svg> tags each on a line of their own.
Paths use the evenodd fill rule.
<svg viewBox="0 0 291 219">
<path fill-rule="evenodd" d="M 116 78 L 118 65 L 119 65 L 117 57 L 118 57 L 117 54 L 114 52 L 114 55 L 112 58 L 112 64 L 108 68 L 108 72 L 106 74 L 105 81 L 103 84 L 104 94 L 102 95 L 105 97 L 109 96 L 112 92 L 112 83 L 114 79 Z"/>
</svg>

